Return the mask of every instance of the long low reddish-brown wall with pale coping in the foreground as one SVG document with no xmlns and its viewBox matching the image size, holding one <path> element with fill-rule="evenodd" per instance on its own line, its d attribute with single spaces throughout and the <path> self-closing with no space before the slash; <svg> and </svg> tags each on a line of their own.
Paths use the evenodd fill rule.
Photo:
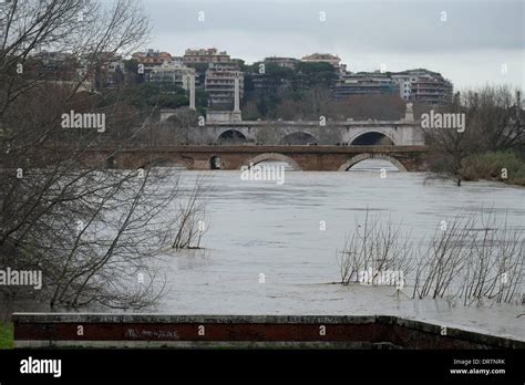
<svg viewBox="0 0 525 385">
<path fill-rule="evenodd" d="M 14 313 L 16 347 L 525 348 L 391 315 Z"/>
</svg>

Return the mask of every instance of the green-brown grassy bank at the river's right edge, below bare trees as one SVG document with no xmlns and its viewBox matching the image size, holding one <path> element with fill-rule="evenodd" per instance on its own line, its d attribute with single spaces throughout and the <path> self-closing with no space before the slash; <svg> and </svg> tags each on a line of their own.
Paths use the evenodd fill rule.
<svg viewBox="0 0 525 385">
<path fill-rule="evenodd" d="M 463 162 L 461 174 L 463 180 L 500 180 L 525 186 L 525 162 L 511 150 L 470 156 Z"/>
</svg>

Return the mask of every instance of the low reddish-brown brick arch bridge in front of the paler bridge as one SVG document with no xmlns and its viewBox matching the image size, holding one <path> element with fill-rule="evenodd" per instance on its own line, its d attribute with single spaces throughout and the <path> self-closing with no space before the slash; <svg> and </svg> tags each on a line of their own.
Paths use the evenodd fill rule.
<svg viewBox="0 0 525 385">
<path fill-rule="evenodd" d="M 158 146 L 92 149 L 85 164 L 107 168 L 182 166 L 187 169 L 240 169 L 265 160 L 285 162 L 297 170 L 343 171 L 369 158 L 385 159 L 401 171 L 426 169 L 425 146 Z"/>
</svg>

